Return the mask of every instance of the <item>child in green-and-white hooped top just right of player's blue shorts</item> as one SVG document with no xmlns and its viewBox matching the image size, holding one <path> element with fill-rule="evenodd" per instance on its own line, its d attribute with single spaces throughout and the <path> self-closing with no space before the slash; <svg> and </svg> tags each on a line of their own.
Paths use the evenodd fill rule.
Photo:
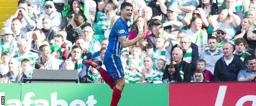
<svg viewBox="0 0 256 106">
<path fill-rule="evenodd" d="M 129 69 L 124 70 L 124 79 L 126 83 L 139 83 L 142 74 L 137 70 L 139 63 L 136 59 L 130 59 Z"/>
</svg>

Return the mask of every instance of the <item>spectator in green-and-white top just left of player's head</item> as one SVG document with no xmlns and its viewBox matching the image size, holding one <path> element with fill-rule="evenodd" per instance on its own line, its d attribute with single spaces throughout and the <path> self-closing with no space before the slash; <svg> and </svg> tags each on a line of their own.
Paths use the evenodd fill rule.
<svg viewBox="0 0 256 106">
<path fill-rule="evenodd" d="M 111 18 L 116 15 L 114 9 L 108 9 L 106 12 L 106 18 L 100 17 L 97 24 L 102 24 L 101 32 L 104 33 L 110 27 Z"/>
</svg>

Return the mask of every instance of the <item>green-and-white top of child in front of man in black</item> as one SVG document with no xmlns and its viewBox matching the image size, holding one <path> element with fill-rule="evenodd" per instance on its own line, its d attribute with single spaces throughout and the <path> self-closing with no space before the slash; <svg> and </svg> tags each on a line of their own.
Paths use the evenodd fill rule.
<svg viewBox="0 0 256 106">
<path fill-rule="evenodd" d="M 160 55 L 159 55 L 159 52 L 160 52 Z M 166 53 L 166 49 L 163 48 L 162 51 L 159 51 L 157 48 L 155 48 L 153 52 L 154 66 L 156 66 L 156 62 L 158 59 L 165 60 L 165 53 Z"/>
</svg>

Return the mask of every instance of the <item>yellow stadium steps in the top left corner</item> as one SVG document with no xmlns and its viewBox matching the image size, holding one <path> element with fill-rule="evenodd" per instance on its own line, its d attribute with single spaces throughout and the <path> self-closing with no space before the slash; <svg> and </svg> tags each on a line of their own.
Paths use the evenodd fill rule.
<svg viewBox="0 0 256 106">
<path fill-rule="evenodd" d="M 17 10 L 18 0 L 0 0 L 0 33 L 3 24 Z"/>
</svg>

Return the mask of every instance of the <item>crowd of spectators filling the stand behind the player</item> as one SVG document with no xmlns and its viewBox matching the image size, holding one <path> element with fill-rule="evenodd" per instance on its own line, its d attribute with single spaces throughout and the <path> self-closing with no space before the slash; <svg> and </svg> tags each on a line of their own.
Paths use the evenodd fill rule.
<svg viewBox="0 0 256 106">
<path fill-rule="evenodd" d="M 133 4 L 127 39 L 146 32 L 122 51 L 126 83 L 255 81 L 256 0 L 19 0 L 0 34 L 0 83 L 34 69 L 105 83 L 83 62 L 103 63 L 123 2 Z"/>
</svg>

